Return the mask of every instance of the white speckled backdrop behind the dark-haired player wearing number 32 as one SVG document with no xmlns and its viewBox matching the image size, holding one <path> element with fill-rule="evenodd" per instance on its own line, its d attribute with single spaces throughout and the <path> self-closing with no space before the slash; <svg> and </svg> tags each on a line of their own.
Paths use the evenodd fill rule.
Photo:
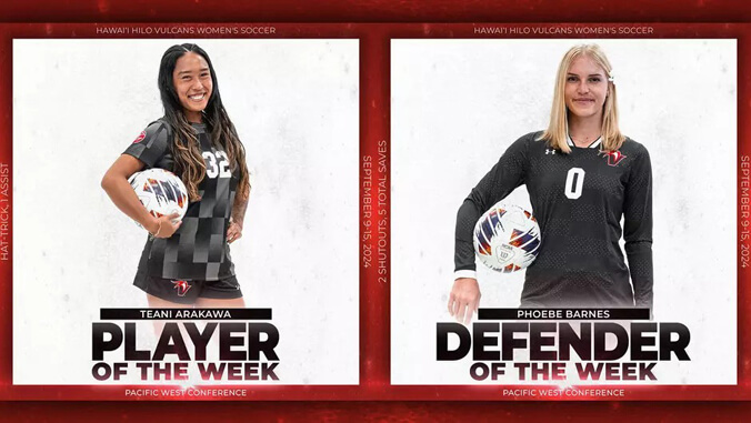
<svg viewBox="0 0 751 423">
<path fill-rule="evenodd" d="M 160 59 L 182 42 L 210 54 L 247 150 L 252 190 L 231 258 L 246 306 L 271 310 L 266 323 L 279 342 L 278 360 L 263 352 L 260 360 L 278 363 L 278 380 L 242 366 L 237 377 L 226 369 L 207 379 L 183 326 L 164 340 L 182 338 L 191 354 L 180 383 L 357 384 L 358 41 L 320 39 L 13 41 L 13 384 L 176 383 L 133 362 L 118 380 L 96 380 L 92 324 L 101 309 L 148 308 L 132 285 L 147 232 L 100 181 L 163 114 Z M 269 339 L 251 332 L 230 336 L 228 348 L 249 351 Z M 203 364 L 221 361 L 218 334 Z M 153 352 L 153 321 L 134 322 L 130 341 Z M 123 361 L 124 350 L 104 361 Z"/>
</svg>

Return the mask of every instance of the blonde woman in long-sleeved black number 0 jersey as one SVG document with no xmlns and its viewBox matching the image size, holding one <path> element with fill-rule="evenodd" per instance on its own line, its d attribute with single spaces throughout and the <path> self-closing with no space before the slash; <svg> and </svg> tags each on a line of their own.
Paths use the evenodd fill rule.
<svg viewBox="0 0 751 423">
<path fill-rule="evenodd" d="M 459 209 L 449 298 L 458 321 L 469 322 L 480 303 L 474 223 L 521 184 L 542 238 L 527 269 L 522 308 L 652 306 L 650 158 L 620 132 L 615 93 L 612 67 L 598 46 L 565 53 L 548 129 L 511 144 Z"/>
</svg>

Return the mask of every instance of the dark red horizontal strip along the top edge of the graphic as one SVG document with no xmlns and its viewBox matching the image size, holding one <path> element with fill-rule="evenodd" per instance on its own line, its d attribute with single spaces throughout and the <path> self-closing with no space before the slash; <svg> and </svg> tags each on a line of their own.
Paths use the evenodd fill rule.
<svg viewBox="0 0 751 423">
<path fill-rule="evenodd" d="M 8 1 L 8 0 L 7 0 Z M 4 22 L 748 22 L 745 0 L 9 0 Z"/>
</svg>

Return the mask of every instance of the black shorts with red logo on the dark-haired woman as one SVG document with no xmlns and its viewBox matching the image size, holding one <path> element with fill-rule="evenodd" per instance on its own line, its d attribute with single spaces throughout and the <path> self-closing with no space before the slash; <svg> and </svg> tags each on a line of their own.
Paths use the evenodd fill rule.
<svg viewBox="0 0 751 423">
<path fill-rule="evenodd" d="M 218 281 L 188 281 L 161 279 L 148 274 L 136 275 L 133 285 L 147 294 L 178 304 L 194 304 L 198 299 L 232 300 L 242 298 L 240 283 L 236 276 Z"/>
</svg>

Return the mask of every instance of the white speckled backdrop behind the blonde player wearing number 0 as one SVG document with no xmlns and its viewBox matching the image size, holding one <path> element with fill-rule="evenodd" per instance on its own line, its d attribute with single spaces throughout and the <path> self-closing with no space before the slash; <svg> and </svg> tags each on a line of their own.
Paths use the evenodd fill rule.
<svg viewBox="0 0 751 423">
<path fill-rule="evenodd" d="M 480 362 L 492 367 L 488 360 L 473 360 L 472 350 L 460 360 L 437 359 L 437 325 L 454 321 L 447 304 L 454 281 L 457 211 L 515 140 L 548 127 L 561 58 L 581 43 L 597 43 L 607 53 L 621 131 L 651 157 L 651 321 L 681 323 L 690 331 L 690 360 L 655 361 L 654 380 L 621 374 L 608 383 L 737 383 L 735 41 L 560 39 L 391 43 L 393 384 L 605 383 L 579 377 L 577 360 L 567 363 L 564 380 L 522 380 L 513 362 L 530 362 L 529 349 L 515 351 L 494 380 L 472 370 Z M 524 185 L 505 201 L 535 213 Z M 499 273 L 478 262 L 477 279 L 481 309 L 520 305 L 523 270 Z M 478 330 L 477 314 L 472 320 L 467 333 Z M 581 334 L 582 321 L 565 324 Z M 465 346 L 455 333 L 447 336 L 448 350 Z M 485 351 L 503 350 L 499 331 L 485 336 L 491 339 Z M 514 338 L 529 342 L 524 333 Z M 472 341 L 478 342 L 477 332 Z M 614 334 L 605 341 L 607 349 L 617 348 Z M 627 353 L 612 362 L 634 361 Z"/>
</svg>

